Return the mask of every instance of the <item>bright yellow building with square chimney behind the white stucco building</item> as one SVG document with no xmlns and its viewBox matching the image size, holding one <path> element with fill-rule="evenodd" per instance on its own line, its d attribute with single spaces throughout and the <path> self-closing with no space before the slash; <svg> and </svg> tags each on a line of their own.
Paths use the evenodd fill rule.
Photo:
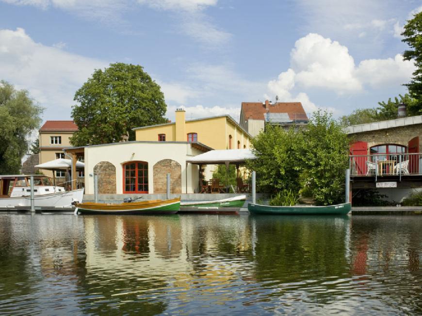
<svg viewBox="0 0 422 316">
<path fill-rule="evenodd" d="M 212 149 L 250 147 L 251 135 L 229 115 L 186 120 L 184 109 L 176 110 L 176 122 L 134 128 L 136 141 L 200 142 Z"/>
</svg>

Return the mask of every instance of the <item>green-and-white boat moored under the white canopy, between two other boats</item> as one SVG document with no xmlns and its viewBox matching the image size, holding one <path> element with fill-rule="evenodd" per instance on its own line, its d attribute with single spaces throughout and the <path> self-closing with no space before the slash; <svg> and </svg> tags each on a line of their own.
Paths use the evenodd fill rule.
<svg viewBox="0 0 422 316">
<path fill-rule="evenodd" d="M 180 212 L 237 212 L 243 206 L 246 195 L 215 201 L 180 202 Z"/>
</svg>

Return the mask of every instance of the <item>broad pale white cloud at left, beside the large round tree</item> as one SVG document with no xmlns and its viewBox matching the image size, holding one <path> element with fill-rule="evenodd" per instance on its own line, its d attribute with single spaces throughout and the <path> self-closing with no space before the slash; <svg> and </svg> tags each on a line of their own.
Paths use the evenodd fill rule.
<svg viewBox="0 0 422 316">
<path fill-rule="evenodd" d="M 27 89 L 45 115 L 70 117 L 73 95 L 107 63 L 35 43 L 24 29 L 0 30 L 0 78 Z M 62 111 L 65 109 L 65 111 Z"/>
</svg>

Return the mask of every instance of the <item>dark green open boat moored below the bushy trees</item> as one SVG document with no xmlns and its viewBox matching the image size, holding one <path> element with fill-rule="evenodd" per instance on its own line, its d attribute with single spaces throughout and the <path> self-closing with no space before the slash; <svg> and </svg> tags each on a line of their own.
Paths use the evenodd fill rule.
<svg viewBox="0 0 422 316">
<path fill-rule="evenodd" d="M 347 214 L 350 212 L 350 203 L 326 206 L 269 206 L 249 203 L 248 210 L 251 214 L 272 215 L 321 215 L 321 214 Z"/>
</svg>

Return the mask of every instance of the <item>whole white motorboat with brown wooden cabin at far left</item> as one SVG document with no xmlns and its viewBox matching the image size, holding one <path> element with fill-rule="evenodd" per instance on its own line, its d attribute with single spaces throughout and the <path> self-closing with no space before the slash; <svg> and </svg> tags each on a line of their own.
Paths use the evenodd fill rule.
<svg viewBox="0 0 422 316">
<path fill-rule="evenodd" d="M 46 175 L 32 177 L 35 206 L 71 206 L 74 201 L 82 201 L 83 189 L 66 191 L 63 187 L 53 186 Z M 31 206 L 31 175 L 0 176 L 0 207 L 14 206 Z"/>
</svg>

